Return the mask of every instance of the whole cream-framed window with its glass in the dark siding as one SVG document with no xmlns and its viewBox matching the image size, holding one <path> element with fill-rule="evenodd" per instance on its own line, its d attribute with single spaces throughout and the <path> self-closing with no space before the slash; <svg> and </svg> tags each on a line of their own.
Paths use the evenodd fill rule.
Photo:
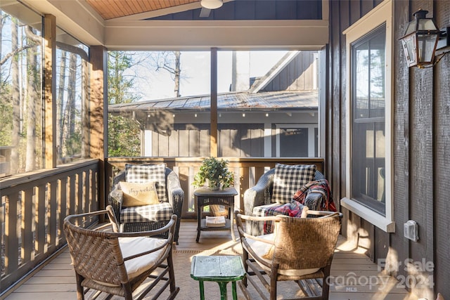
<svg viewBox="0 0 450 300">
<path fill-rule="evenodd" d="M 347 186 L 341 205 L 386 232 L 392 214 L 392 1 L 345 30 Z"/>
</svg>

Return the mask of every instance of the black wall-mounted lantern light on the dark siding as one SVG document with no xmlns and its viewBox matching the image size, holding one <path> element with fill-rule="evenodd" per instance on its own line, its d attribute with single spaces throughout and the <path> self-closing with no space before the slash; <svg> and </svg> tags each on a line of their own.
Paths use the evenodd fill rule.
<svg viewBox="0 0 450 300">
<path fill-rule="evenodd" d="M 409 67 L 431 67 L 449 52 L 440 53 L 435 61 L 437 49 L 449 47 L 450 27 L 438 30 L 435 20 L 425 18 L 427 13 L 422 9 L 413 13 L 415 18 L 409 22 L 404 37 L 400 39 Z"/>
</svg>

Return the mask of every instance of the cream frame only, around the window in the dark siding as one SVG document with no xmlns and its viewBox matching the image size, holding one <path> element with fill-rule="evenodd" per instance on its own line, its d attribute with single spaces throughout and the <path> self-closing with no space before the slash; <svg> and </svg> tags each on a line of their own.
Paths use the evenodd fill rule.
<svg viewBox="0 0 450 300">
<path fill-rule="evenodd" d="M 349 209 L 354 214 L 361 216 L 369 223 L 380 228 L 387 233 L 395 232 L 394 223 L 394 205 L 392 197 L 392 126 L 393 126 L 393 76 L 392 76 L 392 66 L 393 66 L 393 39 L 394 39 L 394 28 L 393 28 L 393 13 L 394 13 L 394 1 L 385 0 L 372 11 L 364 15 L 363 18 L 350 26 L 347 30 L 343 32 L 346 36 L 346 48 L 347 48 L 347 82 L 349 86 L 346 92 L 346 134 L 347 134 L 347 152 L 346 152 L 346 186 L 345 186 L 345 197 L 340 200 L 342 207 Z M 386 25 L 386 51 L 385 51 L 385 205 L 386 214 L 383 216 L 373 209 L 364 206 L 363 204 L 351 199 L 352 195 L 352 43 L 361 39 L 369 32 L 375 30 L 375 28 L 380 25 Z"/>
</svg>

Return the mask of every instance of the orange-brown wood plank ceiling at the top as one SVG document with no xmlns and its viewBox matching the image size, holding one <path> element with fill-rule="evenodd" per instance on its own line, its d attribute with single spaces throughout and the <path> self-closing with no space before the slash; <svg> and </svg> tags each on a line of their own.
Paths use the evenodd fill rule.
<svg viewBox="0 0 450 300">
<path fill-rule="evenodd" d="M 104 20 L 134 15 L 136 13 L 157 11 L 163 8 L 171 8 L 198 1 L 200 0 L 86 0 Z"/>
</svg>

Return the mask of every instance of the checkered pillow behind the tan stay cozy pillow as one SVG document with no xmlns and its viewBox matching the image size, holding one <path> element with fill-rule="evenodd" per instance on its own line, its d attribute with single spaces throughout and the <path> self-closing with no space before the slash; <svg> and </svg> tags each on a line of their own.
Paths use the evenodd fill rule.
<svg viewBox="0 0 450 300">
<path fill-rule="evenodd" d="M 153 181 L 160 202 L 168 202 L 165 169 L 166 164 L 125 164 L 125 181 L 131 183 Z"/>
</svg>

